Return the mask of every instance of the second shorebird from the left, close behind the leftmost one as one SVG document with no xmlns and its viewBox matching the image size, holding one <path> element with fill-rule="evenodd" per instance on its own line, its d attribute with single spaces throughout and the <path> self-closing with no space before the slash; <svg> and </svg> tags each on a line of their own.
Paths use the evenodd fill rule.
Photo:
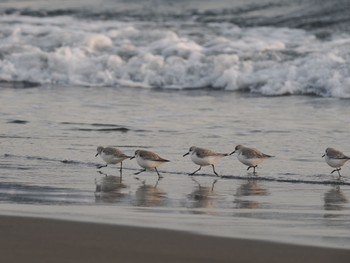
<svg viewBox="0 0 350 263">
<path fill-rule="evenodd" d="M 158 178 L 162 178 L 162 176 L 159 174 L 157 167 L 161 165 L 162 163 L 170 162 L 169 160 L 163 159 L 158 154 L 150 151 L 144 151 L 144 150 L 136 150 L 135 155 L 130 157 L 131 159 L 134 159 L 136 157 L 136 161 L 138 165 L 140 165 L 143 170 L 135 173 L 135 175 L 140 174 L 142 172 L 145 172 L 147 169 L 155 169 Z"/>
</svg>

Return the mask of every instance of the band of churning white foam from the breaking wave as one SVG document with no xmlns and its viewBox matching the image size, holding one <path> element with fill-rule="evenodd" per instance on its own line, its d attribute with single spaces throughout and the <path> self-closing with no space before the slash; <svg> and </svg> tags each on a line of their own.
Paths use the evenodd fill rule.
<svg viewBox="0 0 350 263">
<path fill-rule="evenodd" d="M 3 15 L 0 23 L 2 81 L 350 97 L 345 34 L 321 41 L 288 28 L 63 16 Z"/>
</svg>

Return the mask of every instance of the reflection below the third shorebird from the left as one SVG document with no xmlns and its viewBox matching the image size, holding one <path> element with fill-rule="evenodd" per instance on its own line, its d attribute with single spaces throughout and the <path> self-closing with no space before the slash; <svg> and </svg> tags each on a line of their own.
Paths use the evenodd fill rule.
<svg viewBox="0 0 350 263">
<path fill-rule="evenodd" d="M 196 179 L 192 180 L 197 184 L 195 189 L 188 195 L 192 208 L 214 208 L 215 197 L 214 186 L 218 179 L 215 179 L 211 187 L 202 186 Z"/>
</svg>

